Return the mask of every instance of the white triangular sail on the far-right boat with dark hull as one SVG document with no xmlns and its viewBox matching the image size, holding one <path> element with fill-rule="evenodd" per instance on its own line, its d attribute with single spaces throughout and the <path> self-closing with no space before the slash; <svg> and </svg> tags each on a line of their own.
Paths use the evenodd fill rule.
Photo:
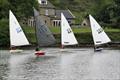
<svg viewBox="0 0 120 80">
<path fill-rule="evenodd" d="M 89 15 L 89 19 L 90 19 L 90 25 L 91 25 L 94 44 L 101 45 L 101 44 L 111 42 L 110 38 L 104 32 L 102 27 L 97 23 L 97 21 L 91 15 Z"/>
</svg>

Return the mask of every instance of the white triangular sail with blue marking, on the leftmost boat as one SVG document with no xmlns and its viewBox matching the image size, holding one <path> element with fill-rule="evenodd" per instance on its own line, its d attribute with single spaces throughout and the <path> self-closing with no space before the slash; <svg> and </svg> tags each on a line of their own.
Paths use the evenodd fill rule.
<svg viewBox="0 0 120 80">
<path fill-rule="evenodd" d="M 10 30 L 10 45 L 11 46 L 23 46 L 29 45 L 29 42 L 19 25 L 16 17 L 9 11 L 9 30 Z"/>
</svg>

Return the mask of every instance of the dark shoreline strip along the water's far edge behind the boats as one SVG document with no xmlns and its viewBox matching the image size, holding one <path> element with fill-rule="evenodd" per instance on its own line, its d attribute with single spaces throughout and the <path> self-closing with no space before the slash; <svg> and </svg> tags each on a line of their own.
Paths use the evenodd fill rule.
<svg viewBox="0 0 120 80">
<path fill-rule="evenodd" d="M 118 48 L 120 49 L 120 43 L 108 43 L 101 45 L 100 47 L 103 48 Z M 23 49 L 23 50 L 30 50 L 30 49 L 35 49 L 36 45 L 28 45 L 28 46 L 21 46 L 17 47 L 18 49 Z M 40 48 L 61 48 L 59 44 L 53 45 L 53 46 L 41 46 Z M 70 45 L 70 46 L 65 46 L 65 48 L 94 48 L 94 45 L 92 43 L 82 43 L 79 45 Z M 0 46 L 0 50 L 10 50 L 9 46 Z"/>
</svg>

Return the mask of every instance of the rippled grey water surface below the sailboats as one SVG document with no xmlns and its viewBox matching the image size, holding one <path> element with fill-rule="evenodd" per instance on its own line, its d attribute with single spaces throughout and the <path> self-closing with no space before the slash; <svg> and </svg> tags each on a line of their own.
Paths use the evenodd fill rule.
<svg viewBox="0 0 120 80">
<path fill-rule="evenodd" d="M 120 50 L 44 49 L 18 54 L 0 51 L 0 80 L 120 80 Z"/>
</svg>

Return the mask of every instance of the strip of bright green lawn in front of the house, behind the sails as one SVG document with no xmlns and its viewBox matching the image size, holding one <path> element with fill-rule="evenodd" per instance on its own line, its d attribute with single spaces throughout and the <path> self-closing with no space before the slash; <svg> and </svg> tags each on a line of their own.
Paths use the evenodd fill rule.
<svg viewBox="0 0 120 80">
<path fill-rule="evenodd" d="M 53 34 L 60 34 L 60 27 L 49 27 L 50 31 Z M 35 28 L 34 27 L 23 27 L 23 30 L 26 33 L 32 33 L 35 34 Z M 86 32 L 91 32 L 90 27 L 72 27 L 72 30 L 74 33 L 86 33 Z M 106 28 L 104 29 L 105 32 L 120 32 L 120 29 L 112 29 L 112 28 Z"/>
</svg>

